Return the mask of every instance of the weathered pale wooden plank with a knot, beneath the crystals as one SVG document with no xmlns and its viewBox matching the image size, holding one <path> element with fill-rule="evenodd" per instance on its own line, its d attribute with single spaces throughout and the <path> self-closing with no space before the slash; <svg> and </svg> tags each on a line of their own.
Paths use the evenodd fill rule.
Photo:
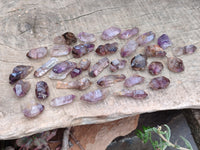
<svg viewBox="0 0 200 150">
<path fill-rule="evenodd" d="M 123 71 L 127 77 L 140 74 L 145 82 L 131 89 L 144 89 L 149 97 L 136 101 L 128 98 L 112 96 L 113 91 L 123 88 L 123 83 L 109 88 L 109 97 L 98 104 L 87 104 L 79 100 L 80 95 L 97 88 L 96 84 L 84 91 L 57 90 L 55 81 L 48 76 L 35 79 L 33 73 L 26 80 L 31 82 L 28 95 L 18 99 L 8 84 L 8 76 L 16 65 L 33 65 L 35 69 L 46 62 L 50 56 L 41 60 L 29 60 L 25 54 L 30 48 L 53 45 L 53 38 L 66 31 L 78 34 L 81 31 L 94 33 L 97 36 L 96 46 L 105 42 L 100 40 L 102 31 L 110 26 L 120 27 L 122 30 L 137 26 L 140 33 L 154 31 L 156 36 L 163 33 L 169 35 L 173 46 L 195 44 L 200 46 L 200 1 L 199 0 L 13 0 L 0 1 L 0 139 L 18 138 L 44 130 L 93 124 L 116 120 L 144 112 L 166 109 L 200 108 L 200 55 L 199 48 L 193 55 L 182 56 L 185 71 L 180 74 L 169 72 L 165 59 L 162 75 L 170 78 L 171 84 L 166 90 L 152 91 L 148 83 L 152 76 L 145 70 L 135 72 L 128 65 Z M 157 40 L 157 39 L 156 39 Z M 156 40 L 154 43 L 156 43 Z M 114 39 L 121 48 L 126 41 Z M 135 54 L 143 52 L 138 48 Z M 171 56 L 171 48 L 167 55 Z M 67 57 L 70 59 L 71 55 Z M 94 64 L 102 58 L 95 53 L 84 56 Z M 110 60 L 120 58 L 119 53 L 109 56 Z M 59 58 L 65 60 L 66 57 Z M 79 59 L 71 59 L 79 61 Z M 97 78 L 110 74 L 104 70 Z M 87 75 L 84 72 L 81 77 Z M 21 112 L 21 107 L 29 100 L 36 100 L 34 95 L 37 81 L 44 80 L 50 87 L 50 97 L 41 102 L 45 111 L 35 119 L 27 119 Z M 65 81 L 71 80 L 67 77 Z M 49 102 L 52 98 L 76 93 L 78 97 L 70 104 L 60 108 L 52 108 Z M 37 100 L 36 100 L 37 101 Z"/>
</svg>

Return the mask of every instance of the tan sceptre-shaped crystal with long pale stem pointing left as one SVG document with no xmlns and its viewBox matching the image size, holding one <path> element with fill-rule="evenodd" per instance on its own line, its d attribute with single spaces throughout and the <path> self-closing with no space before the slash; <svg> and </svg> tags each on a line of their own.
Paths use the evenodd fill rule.
<svg viewBox="0 0 200 150">
<path fill-rule="evenodd" d="M 78 89 L 85 90 L 91 86 L 92 82 L 88 78 L 82 78 L 76 81 L 62 82 L 58 81 L 56 84 L 57 89 Z"/>
</svg>

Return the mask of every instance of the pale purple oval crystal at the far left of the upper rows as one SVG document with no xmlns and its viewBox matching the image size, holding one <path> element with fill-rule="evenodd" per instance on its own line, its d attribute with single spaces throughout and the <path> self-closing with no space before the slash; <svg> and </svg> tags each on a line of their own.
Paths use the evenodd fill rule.
<svg viewBox="0 0 200 150">
<path fill-rule="evenodd" d="M 47 47 L 39 47 L 39 48 L 31 49 L 26 54 L 26 56 L 31 59 L 43 58 L 46 55 L 47 55 Z"/>
</svg>

